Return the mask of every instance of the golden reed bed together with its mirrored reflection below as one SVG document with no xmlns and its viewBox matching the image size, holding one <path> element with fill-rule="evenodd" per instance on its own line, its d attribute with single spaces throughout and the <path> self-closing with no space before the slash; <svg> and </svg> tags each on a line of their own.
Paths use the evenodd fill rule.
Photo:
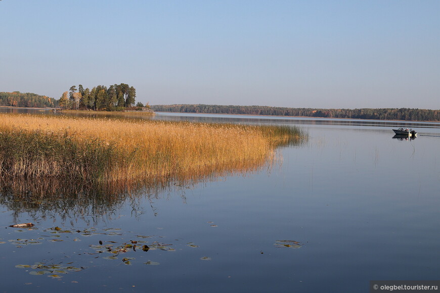
<svg viewBox="0 0 440 293">
<path fill-rule="evenodd" d="M 15 218 L 111 217 L 126 200 L 136 213 L 141 194 L 270 167 L 304 139 L 286 126 L 0 114 L 0 204 Z"/>
</svg>

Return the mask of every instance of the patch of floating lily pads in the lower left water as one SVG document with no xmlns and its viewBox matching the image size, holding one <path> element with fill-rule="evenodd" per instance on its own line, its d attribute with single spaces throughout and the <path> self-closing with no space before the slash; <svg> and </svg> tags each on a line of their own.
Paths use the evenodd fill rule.
<svg viewBox="0 0 440 293">
<path fill-rule="evenodd" d="M 31 275 L 46 275 L 52 278 L 62 278 L 63 274 L 68 274 L 72 272 L 79 272 L 86 268 L 85 266 L 78 266 L 75 263 L 94 263 L 99 262 L 98 265 L 139 265 L 146 264 L 156 266 L 159 265 L 158 262 L 148 260 L 145 262 L 145 258 L 151 255 L 150 251 L 163 251 L 163 252 L 175 252 L 177 251 L 174 248 L 174 243 L 162 242 L 159 241 L 163 236 L 160 235 L 136 235 L 133 232 L 124 232 L 120 228 L 105 228 L 105 229 L 97 229 L 97 228 L 71 228 L 64 229 L 59 226 L 38 229 L 34 228 L 39 232 L 39 237 L 36 239 L 11 239 L 10 243 L 15 245 L 17 248 L 23 248 L 26 245 L 43 245 L 45 247 L 48 242 L 63 242 L 59 245 L 72 248 L 68 242 L 77 241 L 77 238 L 72 239 L 72 235 L 80 235 L 82 237 L 87 236 L 95 236 L 93 238 L 86 238 L 89 241 L 84 241 L 82 244 L 83 249 L 76 248 L 71 251 L 71 253 L 67 253 L 64 257 L 59 260 L 51 259 L 42 260 L 40 262 L 36 262 L 32 265 L 30 264 L 17 264 L 16 268 L 26 269 Z M 47 235 L 46 233 L 49 233 Z M 97 240 L 96 236 L 103 237 L 101 240 Z M 116 236 L 115 240 L 108 240 L 108 236 Z M 120 236 L 120 237 L 119 237 Z M 57 238 L 60 237 L 60 238 Z M 104 238 L 105 237 L 105 238 Z M 131 240 L 123 240 L 126 238 L 131 238 Z M 55 238 L 55 239 L 54 239 Z M 154 241 L 146 241 L 144 239 L 156 238 Z M 183 243 L 182 243 L 183 244 Z M 188 242 L 187 247 L 198 248 L 198 246 L 194 245 L 193 242 Z M 44 250 L 44 249 L 43 249 Z M 183 247 L 179 249 L 182 251 Z M 78 253 L 79 252 L 79 253 Z M 153 253 L 154 254 L 154 253 Z M 136 257 L 135 257 L 136 256 Z M 157 255 L 156 255 L 157 256 Z M 72 261 L 68 263 L 64 263 L 65 259 L 70 259 Z M 87 261 L 89 260 L 89 261 Z M 90 260 L 94 260 L 93 262 Z M 210 260 L 209 258 L 204 258 L 204 260 Z"/>
</svg>

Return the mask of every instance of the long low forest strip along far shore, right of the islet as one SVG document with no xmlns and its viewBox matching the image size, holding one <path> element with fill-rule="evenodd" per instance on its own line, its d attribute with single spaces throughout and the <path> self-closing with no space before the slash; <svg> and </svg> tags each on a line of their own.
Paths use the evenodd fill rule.
<svg viewBox="0 0 440 293">
<path fill-rule="evenodd" d="M 274 116 L 303 116 L 322 118 L 353 118 L 377 120 L 440 121 L 440 110 L 425 109 L 312 109 L 281 108 L 268 106 L 222 106 L 222 105 L 154 105 L 158 112 L 246 114 Z"/>
</svg>

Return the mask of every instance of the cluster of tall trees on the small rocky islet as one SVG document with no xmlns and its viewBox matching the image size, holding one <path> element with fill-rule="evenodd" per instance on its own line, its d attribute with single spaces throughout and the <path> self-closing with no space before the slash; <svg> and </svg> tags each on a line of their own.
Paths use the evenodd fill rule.
<svg viewBox="0 0 440 293">
<path fill-rule="evenodd" d="M 83 109 L 96 111 L 122 111 L 135 105 L 136 89 L 126 83 L 88 87 L 82 84 L 72 85 L 65 91 L 59 100 L 63 109 Z M 138 103 L 137 107 L 144 107 Z"/>
</svg>

